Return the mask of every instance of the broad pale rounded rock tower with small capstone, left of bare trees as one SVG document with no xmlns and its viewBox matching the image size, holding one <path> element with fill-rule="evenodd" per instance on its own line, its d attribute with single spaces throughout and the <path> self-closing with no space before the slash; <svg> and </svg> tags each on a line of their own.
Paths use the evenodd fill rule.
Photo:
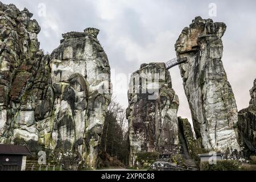
<svg viewBox="0 0 256 182">
<path fill-rule="evenodd" d="M 69 32 L 51 54 L 54 101 L 53 133 L 64 148 L 77 147 L 95 167 L 105 113 L 111 100 L 108 57 L 97 40 L 98 30 Z"/>
</svg>

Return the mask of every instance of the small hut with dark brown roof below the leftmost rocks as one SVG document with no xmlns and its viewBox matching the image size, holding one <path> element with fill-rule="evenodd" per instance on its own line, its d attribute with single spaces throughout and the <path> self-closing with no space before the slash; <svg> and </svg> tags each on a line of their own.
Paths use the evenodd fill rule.
<svg viewBox="0 0 256 182">
<path fill-rule="evenodd" d="M 27 155 L 27 146 L 0 144 L 0 171 L 25 171 Z"/>
</svg>

